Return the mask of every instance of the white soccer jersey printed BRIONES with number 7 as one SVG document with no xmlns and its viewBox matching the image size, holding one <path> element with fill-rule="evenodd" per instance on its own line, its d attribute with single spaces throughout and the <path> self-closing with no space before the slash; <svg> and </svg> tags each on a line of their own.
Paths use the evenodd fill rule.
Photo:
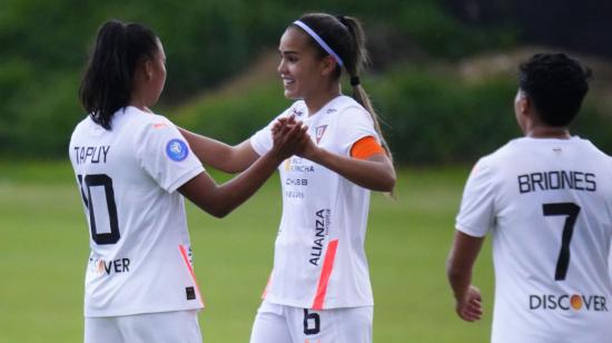
<svg viewBox="0 0 612 343">
<path fill-rule="evenodd" d="M 612 159 L 590 141 L 525 137 L 482 158 L 456 227 L 493 235 L 492 342 L 612 340 Z"/>
</svg>

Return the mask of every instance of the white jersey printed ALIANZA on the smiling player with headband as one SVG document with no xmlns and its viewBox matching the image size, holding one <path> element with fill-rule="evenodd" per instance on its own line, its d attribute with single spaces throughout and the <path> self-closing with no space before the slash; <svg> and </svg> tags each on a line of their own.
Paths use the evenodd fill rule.
<svg viewBox="0 0 612 343">
<path fill-rule="evenodd" d="M 363 137 L 378 139 L 371 116 L 346 96 L 309 117 L 302 100 L 280 116 L 292 114 L 308 125 L 319 147 L 340 156 L 349 156 Z M 274 121 L 250 139 L 259 155 L 273 146 Z M 265 300 L 315 310 L 373 305 L 364 252 L 369 190 L 297 156 L 285 160 L 279 171 L 283 217 Z"/>
</svg>

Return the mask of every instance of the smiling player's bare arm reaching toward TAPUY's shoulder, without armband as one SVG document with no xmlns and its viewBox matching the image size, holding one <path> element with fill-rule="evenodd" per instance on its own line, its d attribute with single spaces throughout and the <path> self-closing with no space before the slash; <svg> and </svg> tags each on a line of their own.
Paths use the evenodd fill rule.
<svg viewBox="0 0 612 343">
<path fill-rule="evenodd" d="M 248 139 L 239 145 L 230 146 L 184 128 L 178 129 L 198 159 L 213 168 L 226 173 L 239 173 L 246 170 L 259 157 Z"/>
</svg>

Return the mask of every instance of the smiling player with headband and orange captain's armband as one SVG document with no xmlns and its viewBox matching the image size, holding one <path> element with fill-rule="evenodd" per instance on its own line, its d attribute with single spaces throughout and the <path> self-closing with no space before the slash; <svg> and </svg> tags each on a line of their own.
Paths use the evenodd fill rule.
<svg viewBox="0 0 612 343">
<path fill-rule="evenodd" d="M 312 140 L 279 167 L 283 217 L 250 342 L 372 342 L 369 189 L 391 192 L 395 170 L 358 78 L 363 30 L 353 18 L 305 14 L 279 52 L 285 96 L 297 101 L 278 118 L 305 122 Z M 344 71 L 353 98 L 342 94 Z M 269 151 L 275 121 L 235 147 L 182 133 L 205 164 L 237 171 Z"/>
</svg>

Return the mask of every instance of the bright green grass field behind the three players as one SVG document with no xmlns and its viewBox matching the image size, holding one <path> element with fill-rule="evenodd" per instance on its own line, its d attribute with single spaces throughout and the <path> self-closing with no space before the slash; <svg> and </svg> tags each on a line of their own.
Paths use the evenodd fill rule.
<svg viewBox="0 0 612 343">
<path fill-rule="evenodd" d="M 467 171 L 402 169 L 397 200 L 373 196 L 366 248 L 375 342 L 488 341 L 488 245 L 475 275 L 486 307 L 482 322 L 455 316 L 444 273 Z M 277 176 L 225 219 L 188 205 L 195 268 L 207 304 L 199 316 L 205 342 L 248 342 L 279 214 Z M 82 342 L 87 256 L 88 231 L 68 163 L 0 161 L 0 343 Z"/>
</svg>

